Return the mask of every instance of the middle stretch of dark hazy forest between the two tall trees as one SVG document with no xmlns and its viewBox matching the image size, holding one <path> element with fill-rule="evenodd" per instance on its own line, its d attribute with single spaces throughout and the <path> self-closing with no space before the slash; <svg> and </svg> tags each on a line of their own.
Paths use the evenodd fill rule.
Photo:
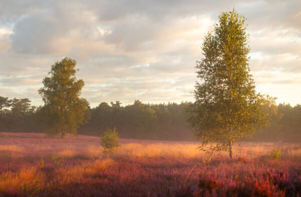
<svg viewBox="0 0 301 197">
<path fill-rule="evenodd" d="M 124 138 L 192 140 L 185 114 L 188 104 L 149 104 L 135 100 L 133 104 L 122 106 L 119 101 L 101 102 L 90 109 L 91 120 L 80 127 L 79 133 L 100 136 L 100 131 L 115 126 Z"/>
</svg>

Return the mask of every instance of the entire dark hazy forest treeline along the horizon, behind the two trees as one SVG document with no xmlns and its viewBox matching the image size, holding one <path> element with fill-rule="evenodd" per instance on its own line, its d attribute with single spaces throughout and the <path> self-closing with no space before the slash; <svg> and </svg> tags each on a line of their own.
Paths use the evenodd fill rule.
<svg viewBox="0 0 301 197">
<path fill-rule="evenodd" d="M 106 128 L 116 127 L 120 137 L 158 140 L 193 140 L 186 122 L 186 107 L 190 102 L 145 104 L 135 100 L 122 106 L 119 101 L 101 102 L 90 108 L 91 119 L 78 129 L 78 134 L 100 136 Z M 262 109 L 270 126 L 255 133 L 252 141 L 301 141 L 301 105 L 291 106 L 267 96 Z M 0 96 L 0 131 L 43 132 L 42 107 L 31 105 L 28 98 Z"/>
</svg>

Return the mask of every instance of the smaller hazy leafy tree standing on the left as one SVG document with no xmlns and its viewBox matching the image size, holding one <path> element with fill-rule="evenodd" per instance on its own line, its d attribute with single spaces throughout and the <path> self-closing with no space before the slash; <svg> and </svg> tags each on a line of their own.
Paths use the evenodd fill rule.
<svg viewBox="0 0 301 197">
<path fill-rule="evenodd" d="M 56 62 L 51 66 L 51 76 L 43 79 L 44 87 L 39 89 L 49 135 L 60 134 L 63 138 L 66 133 L 76 134 L 87 117 L 89 103 L 80 97 L 84 81 L 76 79 L 75 66 L 76 61 L 67 57 Z"/>
</svg>

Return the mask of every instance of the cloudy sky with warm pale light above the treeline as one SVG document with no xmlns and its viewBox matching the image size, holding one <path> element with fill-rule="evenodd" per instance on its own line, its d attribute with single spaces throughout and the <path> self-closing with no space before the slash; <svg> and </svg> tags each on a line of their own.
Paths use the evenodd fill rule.
<svg viewBox="0 0 301 197">
<path fill-rule="evenodd" d="M 203 38 L 233 7 L 257 92 L 301 103 L 300 0 L 1 0 L 0 96 L 43 104 L 43 78 L 70 57 L 92 107 L 193 101 Z"/>
</svg>

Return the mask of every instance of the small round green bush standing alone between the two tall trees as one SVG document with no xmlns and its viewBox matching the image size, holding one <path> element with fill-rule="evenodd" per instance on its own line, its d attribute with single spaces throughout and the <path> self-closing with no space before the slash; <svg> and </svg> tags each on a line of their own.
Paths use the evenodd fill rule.
<svg viewBox="0 0 301 197">
<path fill-rule="evenodd" d="M 107 128 L 106 131 L 100 136 L 100 144 L 105 152 L 111 152 L 120 147 L 118 132 L 116 127 L 112 129 Z"/>
</svg>

